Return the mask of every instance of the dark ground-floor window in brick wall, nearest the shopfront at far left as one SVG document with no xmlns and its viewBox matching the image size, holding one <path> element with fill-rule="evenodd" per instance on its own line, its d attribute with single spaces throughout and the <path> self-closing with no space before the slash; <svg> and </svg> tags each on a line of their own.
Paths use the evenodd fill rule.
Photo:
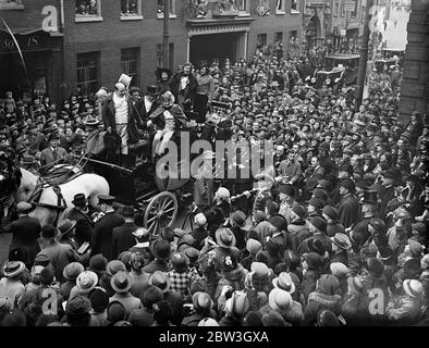
<svg viewBox="0 0 429 348">
<path fill-rule="evenodd" d="M 99 88 L 100 52 L 77 54 L 77 87 L 83 95 L 95 94 Z"/>
</svg>

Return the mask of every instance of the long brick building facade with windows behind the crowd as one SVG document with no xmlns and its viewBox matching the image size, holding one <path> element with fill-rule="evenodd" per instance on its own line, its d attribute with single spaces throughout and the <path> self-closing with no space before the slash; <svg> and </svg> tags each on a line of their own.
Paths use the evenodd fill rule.
<svg viewBox="0 0 429 348">
<path fill-rule="evenodd" d="M 7 2 L 0 0 L 0 11 L 16 37 L 29 33 L 49 37 L 38 64 L 45 65 L 46 92 L 54 101 L 77 88 L 84 94 L 100 86 L 111 89 L 121 73 L 132 75 L 133 84 L 142 88 L 156 82 L 155 71 L 162 65 L 163 0 L 16 0 L 15 9 L 7 9 Z M 290 37 L 297 41 L 303 37 L 304 0 L 233 0 L 230 9 L 216 0 L 207 2 L 198 8 L 191 0 L 170 0 L 170 69 L 187 60 L 197 64 L 212 58 L 248 59 L 257 45 L 274 41 L 283 42 L 286 54 Z M 58 9 L 57 33 L 41 29 L 47 5 Z M 1 28 L 3 36 L 10 36 Z M 0 54 L 4 73 L 11 59 L 4 59 L 7 52 Z M 37 59 L 29 52 L 24 58 L 34 75 Z M 9 88 L 22 96 L 17 82 L 8 86 L 8 79 L 1 80 L 1 91 Z M 30 85 L 34 90 L 35 82 Z"/>
</svg>

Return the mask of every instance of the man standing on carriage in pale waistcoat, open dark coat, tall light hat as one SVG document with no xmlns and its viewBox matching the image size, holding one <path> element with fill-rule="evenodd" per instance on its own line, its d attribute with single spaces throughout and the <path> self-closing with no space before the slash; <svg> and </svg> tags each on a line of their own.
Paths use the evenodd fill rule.
<svg viewBox="0 0 429 348">
<path fill-rule="evenodd" d="M 109 95 L 102 105 L 102 122 L 108 133 L 117 133 L 121 137 L 122 163 L 128 159 L 128 144 L 138 141 L 136 121 L 133 114 L 133 102 L 126 94 L 123 83 L 114 85 L 113 94 Z"/>
</svg>

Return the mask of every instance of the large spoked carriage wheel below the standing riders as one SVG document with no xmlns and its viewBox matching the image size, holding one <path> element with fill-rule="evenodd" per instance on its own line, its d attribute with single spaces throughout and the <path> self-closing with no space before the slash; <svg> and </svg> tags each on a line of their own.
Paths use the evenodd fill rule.
<svg viewBox="0 0 429 348">
<path fill-rule="evenodd" d="M 177 215 L 177 199 L 169 191 L 155 196 L 147 206 L 144 223 L 150 234 L 158 234 L 161 228 L 171 226 Z"/>
</svg>

